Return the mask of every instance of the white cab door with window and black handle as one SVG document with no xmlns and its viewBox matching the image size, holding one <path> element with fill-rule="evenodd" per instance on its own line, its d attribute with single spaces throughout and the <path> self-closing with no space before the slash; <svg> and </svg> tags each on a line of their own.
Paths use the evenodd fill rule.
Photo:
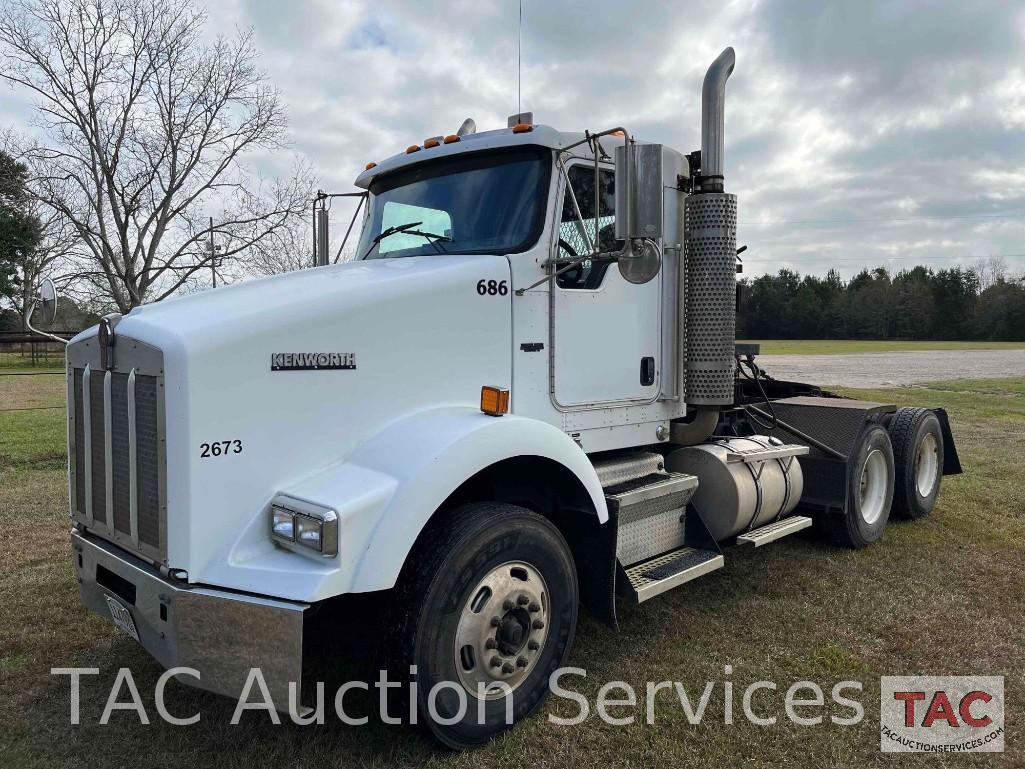
<svg viewBox="0 0 1025 769">
<path fill-rule="evenodd" d="M 594 238 L 594 166 L 568 166 L 577 205 L 563 185 L 562 218 L 552 255 L 587 253 Z M 599 173 L 599 249 L 615 240 L 615 171 Z M 579 207 L 580 215 L 577 215 Z M 556 405 L 577 410 L 654 401 L 660 391 L 662 275 L 625 280 L 614 261 L 588 259 L 552 282 L 552 377 Z"/>
</svg>

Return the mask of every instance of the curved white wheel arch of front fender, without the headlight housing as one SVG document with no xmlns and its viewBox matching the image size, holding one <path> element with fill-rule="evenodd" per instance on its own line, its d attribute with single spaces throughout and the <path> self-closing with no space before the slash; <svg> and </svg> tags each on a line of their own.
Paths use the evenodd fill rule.
<svg viewBox="0 0 1025 769">
<path fill-rule="evenodd" d="M 361 467 L 394 477 L 397 484 L 376 516 L 350 592 L 395 585 L 416 537 L 442 502 L 480 471 L 517 456 L 541 456 L 565 467 L 587 490 L 599 521 L 608 521 L 590 460 L 558 428 L 511 414 L 488 416 L 471 408 L 421 412 L 389 426 L 352 456 Z"/>
</svg>

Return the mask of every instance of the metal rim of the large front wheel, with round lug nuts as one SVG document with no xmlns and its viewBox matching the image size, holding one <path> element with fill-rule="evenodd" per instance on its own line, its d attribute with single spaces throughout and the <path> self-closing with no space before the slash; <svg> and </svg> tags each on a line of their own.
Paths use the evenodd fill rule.
<svg viewBox="0 0 1025 769">
<path fill-rule="evenodd" d="M 475 697 L 499 699 L 537 664 L 548 637 L 550 603 L 533 566 L 496 566 L 470 591 L 455 634 L 459 683 Z"/>
</svg>

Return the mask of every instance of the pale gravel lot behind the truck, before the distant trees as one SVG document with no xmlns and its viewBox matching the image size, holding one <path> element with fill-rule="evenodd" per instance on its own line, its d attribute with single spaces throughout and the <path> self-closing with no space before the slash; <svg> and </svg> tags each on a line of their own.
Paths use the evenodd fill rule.
<svg viewBox="0 0 1025 769">
<path fill-rule="evenodd" d="M 1025 376 L 1025 350 L 935 350 L 854 355 L 763 355 L 777 379 L 849 388 L 914 385 L 938 379 Z"/>
</svg>

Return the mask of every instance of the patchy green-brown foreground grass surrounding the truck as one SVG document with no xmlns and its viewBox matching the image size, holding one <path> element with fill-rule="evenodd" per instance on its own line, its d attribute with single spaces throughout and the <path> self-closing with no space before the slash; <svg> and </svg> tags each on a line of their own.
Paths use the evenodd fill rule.
<svg viewBox="0 0 1025 769">
<path fill-rule="evenodd" d="M 36 380 L 22 390 L 19 378 Z M 865 689 L 854 727 L 796 727 L 770 694 L 773 727 L 724 724 L 722 696 L 691 726 L 679 703 L 660 700 L 653 726 L 599 719 L 557 727 L 546 716 L 576 712 L 549 699 L 542 711 L 481 751 L 453 755 L 419 734 L 371 723 L 272 727 L 252 714 L 230 726 L 234 702 L 177 684 L 172 713 L 200 712 L 196 726 L 157 718 L 158 664 L 79 604 L 68 545 L 64 413 L 0 411 L 0 764 L 4 767 L 310 766 L 1023 766 L 1025 698 L 1025 380 L 937 382 L 849 394 L 901 405 L 945 406 L 966 468 L 944 482 L 929 518 L 892 524 L 862 552 L 791 537 L 757 551 L 729 551 L 726 568 L 685 589 L 621 610 L 618 635 L 584 617 L 570 664 L 586 669 L 575 691 L 590 703 L 602 683 L 683 682 L 700 691 L 729 678 L 735 690 L 762 679 L 781 690 L 842 680 Z M 0 409 L 58 405 L 55 377 L 0 377 Z M 20 405 L 19 405 L 20 404 Z M 119 666 L 129 665 L 152 725 L 132 713 L 99 714 Z M 725 675 L 725 665 L 733 673 Z M 69 724 L 69 685 L 52 666 L 92 666 L 81 725 Z M 878 677 L 993 674 L 1007 677 L 1007 753 L 913 756 L 878 751 Z M 716 690 L 721 685 L 716 684 Z M 739 696 L 739 695 L 738 695 Z M 740 712 L 740 703 L 734 705 Z M 626 715 L 617 714 L 617 715 Z"/>
</svg>

